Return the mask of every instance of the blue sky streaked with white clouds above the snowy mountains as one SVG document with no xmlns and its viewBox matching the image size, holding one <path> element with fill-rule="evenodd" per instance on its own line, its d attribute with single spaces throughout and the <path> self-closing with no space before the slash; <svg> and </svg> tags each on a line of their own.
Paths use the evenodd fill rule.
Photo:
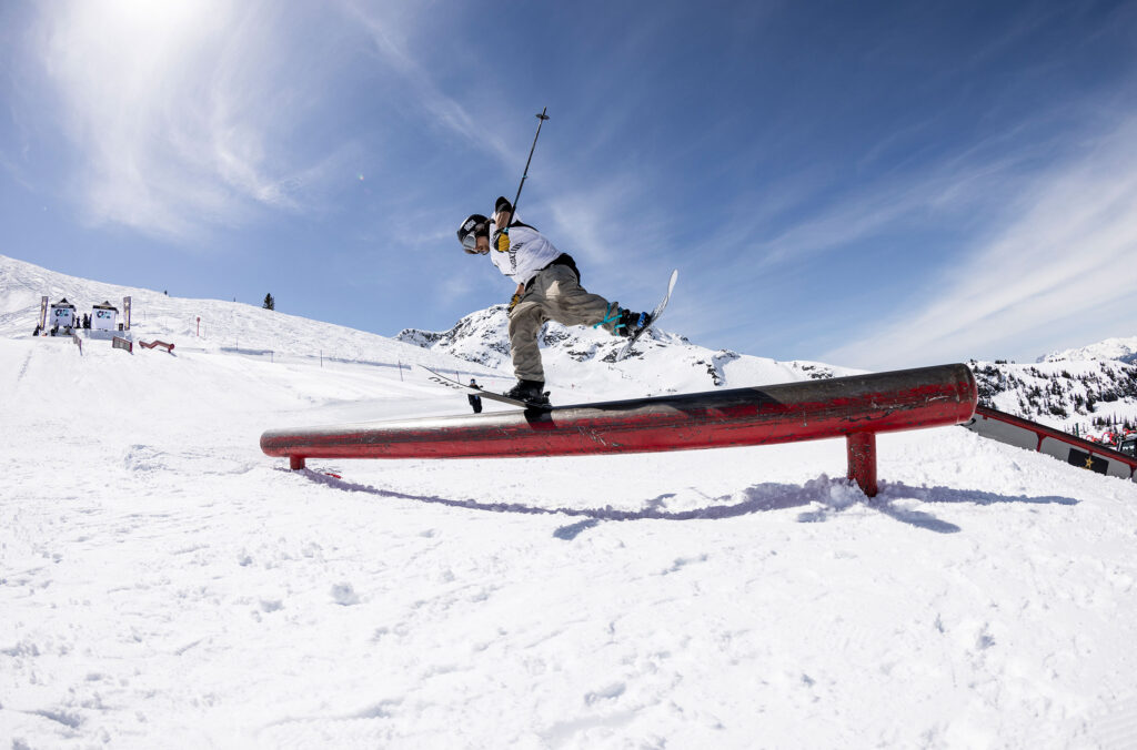
<svg viewBox="0 0 1137 750">
<path fill-rule="evenodd" d="M 513 197 L 664 328 L 887 369 L 1137 335 L 1137 5 L 9 0 L 0 253 L 393 335 Z"/>
</svg>

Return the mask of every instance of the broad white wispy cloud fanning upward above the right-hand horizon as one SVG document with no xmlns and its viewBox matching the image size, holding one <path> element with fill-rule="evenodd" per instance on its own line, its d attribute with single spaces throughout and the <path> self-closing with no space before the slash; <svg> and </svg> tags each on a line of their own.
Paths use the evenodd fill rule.
<svg viewBox="0 0 1137 750">
<path fill-rule="evenodd" d="M 1137 323 L 1126 312 L 1137 302 L 1137 118 L 1037 174 L 1014 208 L 929 280 L 926 302 L 823 359 L 885 368 L 1009 356 Z"/>
</svg>

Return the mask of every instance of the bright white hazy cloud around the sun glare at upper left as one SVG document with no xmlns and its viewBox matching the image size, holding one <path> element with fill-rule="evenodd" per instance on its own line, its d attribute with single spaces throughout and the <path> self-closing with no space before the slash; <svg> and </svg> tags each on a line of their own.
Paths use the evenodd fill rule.
<svg viewBox="0 0 1137 750">
<path fill-rule="evenodd" d="M 258 207 L 299 211 L 323 160 L 281 148 L 289 82 L 258 5 L 80 0 L 42 7 L 39 55 L 77 152 L 94 224 L 190 239 Z M 282 91 L 283 89 L 283 91 Z"/>
</svg>

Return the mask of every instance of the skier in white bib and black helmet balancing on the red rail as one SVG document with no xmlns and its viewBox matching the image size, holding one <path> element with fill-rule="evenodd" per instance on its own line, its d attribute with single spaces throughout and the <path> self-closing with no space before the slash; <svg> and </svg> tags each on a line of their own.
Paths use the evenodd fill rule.
<svg viewBox="0 0 1137 750">
<path fill-rule="evenodd" d="M 620 336 L 630 336 L 652 322 L 649 312 L 631 312 L 584 291 L 572 256 L 557 250 L 532 226 L 515 220 L 513 205 L 505 197 L 495 202 L 492 220 L 481 214 L 466 217 L 458 227 L 458 242 L 470 255 L 489 253 L 498 270 L 517 282 L 508 308 L 509 349 L 517 376 L 517 384 L 505 393 L 509 398 L 548 403 L 537 345 L 546 320 L 603 327 Z"/>
</svg>

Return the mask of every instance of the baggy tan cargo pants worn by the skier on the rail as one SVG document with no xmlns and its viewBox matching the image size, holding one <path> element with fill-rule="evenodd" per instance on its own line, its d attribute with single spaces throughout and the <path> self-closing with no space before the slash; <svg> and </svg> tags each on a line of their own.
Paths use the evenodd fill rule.
<svg viewBox="0 0 1137 750">
<path fill-rule="evenodd" d="M 608 317 L 615 318 L 615 302 L 612 302 L 611 309 Z M 546 320 L 563 325 L 596 325 L 604 320 L 608 310 L 608 300 L 584 291 L 568 266 L 549 266 L 537 274 L 529 291 L 509 314 L 509 349 L 517 380 L 545 382 L 537 336 Z M 615 323 L 612 319 L 600 327 L 614 334 Z"/>
</svg>

